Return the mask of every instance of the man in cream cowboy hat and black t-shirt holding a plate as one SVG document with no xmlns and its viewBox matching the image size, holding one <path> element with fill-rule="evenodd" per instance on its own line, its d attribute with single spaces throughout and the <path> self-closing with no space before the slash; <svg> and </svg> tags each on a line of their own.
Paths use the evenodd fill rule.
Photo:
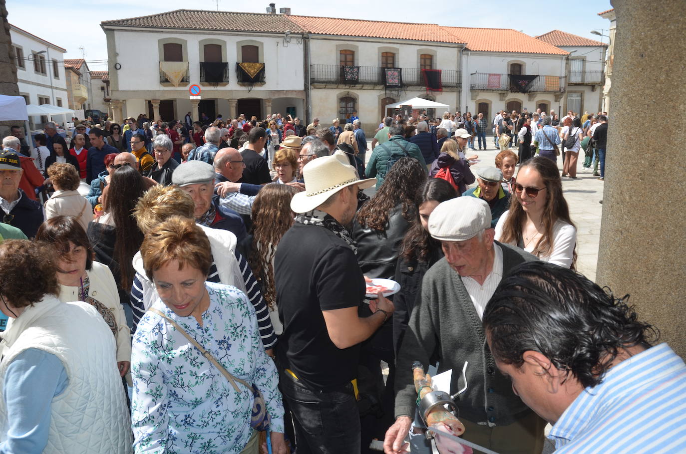
<svg viewBox="0 0 686 454">
<path fill-rule="evenodd" d="M 344 227 L 357 209 L 358 180 L 343 153 L 303 167 L 306 191 L 291 209 L 318 208 L 323 221 L 299 215 L 279 242 L 274 283 L 283 333 L 277 344 L 279 384 L 292 411 L 298 454 L 359 454 L 355 391 L 359 344 L 388 320 L 393 303 L 378 294 L 372 315 L 357 310 L 366 290 L 355 246 Z"/>
</svg>

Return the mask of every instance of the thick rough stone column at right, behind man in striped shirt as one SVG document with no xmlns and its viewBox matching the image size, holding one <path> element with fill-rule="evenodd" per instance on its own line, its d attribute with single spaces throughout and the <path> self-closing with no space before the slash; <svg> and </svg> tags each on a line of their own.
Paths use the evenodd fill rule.
<svg viewBox="0 0 686 454">
<path fill-rule="evenodd" d="M 617 33 L 596 280 L 615 296 L 630 294 L 639 318 L 686 357 L 686 128 L 677 113 L 686 105 L 686 41 L 665 45 L 686 29 L 683 0 L 611 3 Z M 628 125 L 656 108 L 679 120 L 651 122 L 632 137 Z"/>
</svg>

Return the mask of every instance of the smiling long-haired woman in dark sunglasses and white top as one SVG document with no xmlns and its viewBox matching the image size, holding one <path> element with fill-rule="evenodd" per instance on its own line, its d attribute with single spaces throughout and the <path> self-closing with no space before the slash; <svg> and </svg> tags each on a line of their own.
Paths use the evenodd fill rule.
<svg viewBox="0 0 686 454">
<path fill-rule="evenodd" d="M 557 165 L 536 156 L 523 163 L 512 183 L 510 209 L 495 226 L 495 239 L 517 245 L 542 261 L 563 267 L 576 262 L 576 226 L 562 193 Z"/>
</svg>

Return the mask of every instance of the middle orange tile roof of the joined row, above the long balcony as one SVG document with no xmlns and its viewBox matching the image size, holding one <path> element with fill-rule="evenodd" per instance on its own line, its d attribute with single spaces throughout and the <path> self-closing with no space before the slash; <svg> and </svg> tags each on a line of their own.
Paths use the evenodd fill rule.
<svg viewBox="0 0 686 454">
<path fill-rule="evenodd" d="M 337 19 L 333 17 L 287 16 L 310 33 L 337 36 L 407 39 L 435 43 L 464 43 L 458 36 L 432 23 L 399 23 Z"/>
</svg>

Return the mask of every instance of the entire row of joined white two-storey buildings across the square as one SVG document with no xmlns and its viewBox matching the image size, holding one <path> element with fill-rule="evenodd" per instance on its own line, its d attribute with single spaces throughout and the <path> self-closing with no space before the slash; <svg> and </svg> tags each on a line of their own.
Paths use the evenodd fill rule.
<svg viewBox="0 0 686 454">
<path fill-rule="evenodd" d="M 141 112 L 165 120 L 182 119 L 189 111 L 193 119 L 202 113 L 213 119 L 280 112 L 303 117 L 303 123 L 319 117 L 328 126 L 357 111 L 370 131 L 388 113 L 386 105 L 417 96 L 488 119 L 501 109 L 564 112 L 569 104 L 595 110 L 600 99 L 602 80 L 591 75 L 599 70 L 595 60 L 602 58 L 596 53 L 604 47 L 593 40 L 577 36 L 572 45 L 553 45 L 545 36 L 514 29 L 295 16 L 287 8 L 283 14 L 270 9 L 268 14 L 176 10 L 103 22 L 115 119 Z M 141 42 L 157 46 L 140 47 Z M 132 48 L 139 50 L 127 51 Z M 244 82 L 238 67 L 243 62 L 264 64 L 257 83 Z M 213 82 L 208 75 L 214 75 Z M 200 101 L 189 99 L 193 84 L 202 89 Z"/>
</svg>

